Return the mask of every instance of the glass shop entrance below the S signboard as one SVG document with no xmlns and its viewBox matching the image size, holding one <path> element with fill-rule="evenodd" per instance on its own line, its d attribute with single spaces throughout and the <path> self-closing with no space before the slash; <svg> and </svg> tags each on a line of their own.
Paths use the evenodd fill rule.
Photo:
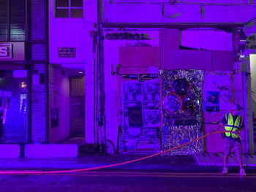
<svg viewBox="0 0 256 192">
<path fill-rule="evenodd" d="M 27 142 L 26 70 L 0 70 L 0 142 Z"/>
</svg>

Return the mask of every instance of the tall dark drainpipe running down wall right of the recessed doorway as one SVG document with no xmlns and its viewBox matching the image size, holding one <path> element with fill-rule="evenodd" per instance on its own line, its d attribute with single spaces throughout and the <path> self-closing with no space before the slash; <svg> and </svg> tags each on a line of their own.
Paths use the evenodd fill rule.
<svg viewBox="0 0 256 192">
<path fill-rule="evenodd" d="M 100 152 L 106 153 L 106 120 L 105 120 L 105 89 L 104 89 L 104 64 L 103 64 L 103 30 L 102 30 L 102 0 L 97 1 L 98 25 L 97 25 L 97 66 L 99 69 L 99 108 L 98 108 L 98 126 L 99 126 L 99 145 Z"/>
</svg>

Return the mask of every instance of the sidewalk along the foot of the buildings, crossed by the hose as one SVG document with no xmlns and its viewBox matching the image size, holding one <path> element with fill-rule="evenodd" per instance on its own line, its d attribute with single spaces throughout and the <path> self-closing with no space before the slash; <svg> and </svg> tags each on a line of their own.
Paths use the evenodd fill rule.
<svg viewBox="0 0 256 192">
<path fill-rule="evenodd" d="M 79 158 L 1 158 L 0 169 L 85 169 L 97 166 L 117 164 L 142 158 L 146 155 L 135 154 L 83 154 Z M 221 172 L 222 166 L 198 165 L 194 155 L 155 156 L 121 166 L 113 166 L 112 170 L 143 170 L 156 172 Z M 234 166 L 233 169 L 236 169 Z M 246 171 L 256 172 L 256 167 L 245 167 Z"/>
</svg>

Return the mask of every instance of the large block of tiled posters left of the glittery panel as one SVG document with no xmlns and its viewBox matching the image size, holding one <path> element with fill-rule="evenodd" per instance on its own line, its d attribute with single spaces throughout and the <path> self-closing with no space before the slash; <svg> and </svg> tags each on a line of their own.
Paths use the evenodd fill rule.
<svg viewBox="0 0 256 192">
<path fill-rule="evenodd" d="M 159 82 L 121 82 L 122 129 L 120 149 L 152 151 L 160 149 Z"/>
</svg>

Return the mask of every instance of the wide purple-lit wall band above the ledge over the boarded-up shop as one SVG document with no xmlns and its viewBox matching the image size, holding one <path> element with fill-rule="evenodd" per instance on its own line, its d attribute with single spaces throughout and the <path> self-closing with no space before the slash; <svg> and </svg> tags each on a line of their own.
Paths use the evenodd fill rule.
<svg viewBox="0 0 256 192">
<path fill-rule="evenodd" d="M 118 0 L 117 0 L 118 1 Z M 126 2 L 129 2 L 128 0 Z M 135 2 L 135 1 L 132 1 Z M 231 2 L 230 6 L 215 4 L 115 3 L 104 0 L 106 23 L 246 23 L 255 17 L 255 6 Z M 157 1 L 159 2 L 159 1 Z M 195 1 L 196 2 L 196 1 Z M 203 2 L 199 1 L 199 2 Z M 209 3 L 210 1 L 208 1 Z M 237 4 L 239 2 L 239 4 Z M 212 3 L 212 1 L 211 1 Z M 215 3 L 215 1 L 214 1 Z"/>
</svg>

